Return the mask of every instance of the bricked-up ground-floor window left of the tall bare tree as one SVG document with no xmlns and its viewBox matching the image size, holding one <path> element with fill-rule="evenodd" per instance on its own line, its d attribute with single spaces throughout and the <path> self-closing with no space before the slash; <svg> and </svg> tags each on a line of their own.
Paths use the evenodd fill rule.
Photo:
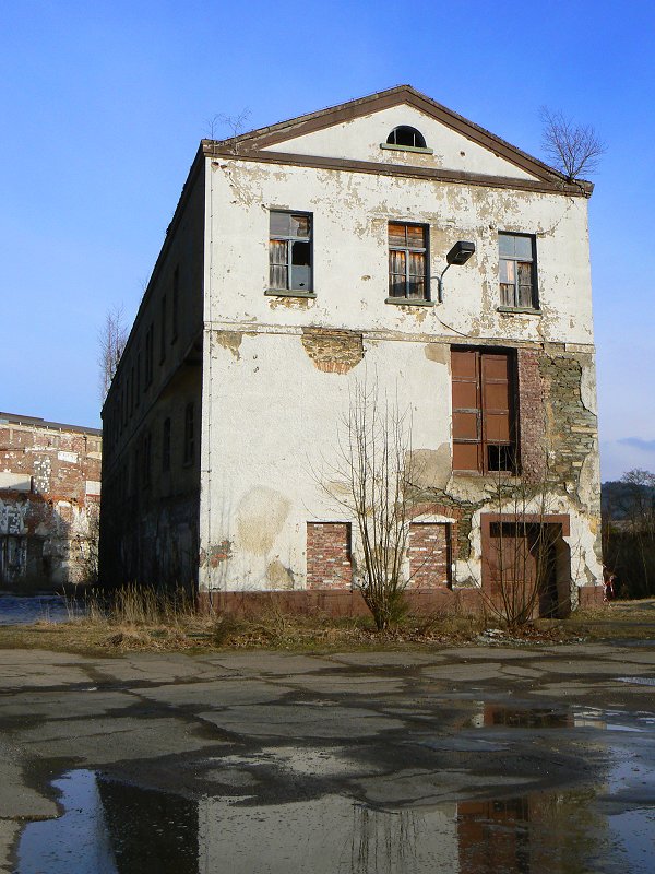
<svg viewBox="0 0 655 874">
<path fill-rule="evenodd" d="M 307 523 L 307 588 L 350 589 L 349 522 Z"/>
</svg>

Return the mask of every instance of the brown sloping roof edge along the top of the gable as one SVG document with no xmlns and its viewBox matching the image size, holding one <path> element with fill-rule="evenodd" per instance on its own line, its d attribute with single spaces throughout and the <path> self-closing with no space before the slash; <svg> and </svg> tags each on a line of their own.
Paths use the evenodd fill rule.
<svg viewBox="0 0 655 874">
<path fill-rule="evenodd" d="M 230 137 L 226 140 L 205 140 L 203 141 L 203 145 L 209 146 L 205 150 L 209 154 L 215 153 L 216 150 L 223 151 L 227 149 L 229 151 L 238 151 L 241 154 L 248 153 L 252 155 L 252 153 L 260 152 L 260 150 L 267 146 L 284 143 L 286 140 L 302 137 L 307 133 L 313 133 L 314 131 L 323 130 L 344 121 L 352 121 L 356 118 L 370 115 L 371 113 L 400 105 L 414 107 L 420 113 L 433 118 L 436 121 L 466 137 L 466 139 L 472 142 L 509 161 L 511 164 L 514 164 L 514 166 L 536 177 L 536 179 L 540 180 L 547 187 L 552 186 L 559 191 L 576 194 L 582 193 L 587 197 L 591 196 L 594 189 L 592 182 L 582 179 L 576 180 L 574 184 L 569 182 L 567 177 L 553 167 L 549 167 L 543 161 L 528 155 L 515 145 L 497 137 L 495 133 L 469 121 L 467 118 L 454 113 L 446 106 L 437 103 L 437 101 L 433 101 L 426 94 L 421 94 L 419 91 L 416 91 L 416 88 L 413 88 L 412 85 L 396 85 L 393 88 L 380 91 L 367 97 L 347 101 L 337 106 L 331 106 L 315 113 L 308 113 L 297 118 L 290 118 L 286 121 L 279 121 L 276 125 L 258 128 L 237 137 Z"/>
</svg>

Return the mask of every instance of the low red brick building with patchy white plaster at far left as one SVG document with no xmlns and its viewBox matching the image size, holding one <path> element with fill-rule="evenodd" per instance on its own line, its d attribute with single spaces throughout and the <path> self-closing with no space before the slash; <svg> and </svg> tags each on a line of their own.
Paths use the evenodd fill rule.
<svg viewBox="0 0 655 874">
<path fill-rule="evenodd" d="M 0 413 L 0 584 L 94 580 L 102 446 L 97 428 Z"/>
</svg>

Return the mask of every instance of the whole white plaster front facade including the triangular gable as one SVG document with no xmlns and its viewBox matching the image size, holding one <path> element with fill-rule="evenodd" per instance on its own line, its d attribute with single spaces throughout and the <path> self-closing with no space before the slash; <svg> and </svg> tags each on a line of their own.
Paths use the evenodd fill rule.
<svg viewBox="0 0 655 874">
<path fill-rule="evenodd" d="M 420 131 L 427 149 L 383 147 L 400 125 Z M 591 186 L 568 185 L 405 86 L 204 141 L 194 167 L 188 187 L 204 193 L 200 590 L 305 588 L 307 523 L 354 521 L 326 504 L 315 471 L 334 454 L 354 380 L 371 378 L 412 409 L 421 487 L 436 503 L 475 505 L 468 555 L 453 551 L 452 584 L 479 586 L 480 513 L 502 508 L 484 505 L 489 477 L 452 470 L 453 345 L 528 351 L 579 368 L 588 451 L 573 458 L 564 447 L 574 476 L 562 475 L 548 512 L 570 517 L 575 586 L 598 581 Z M 270 291 L 272 211 L 311 216 L 311 295 Z M 394 221 L 428 227 L 430 300 L 420 305 L 388 302 Z M 529 311 L 499 308 L 499 232 L 534 237 L 538 307 Z M 448 271 L 438 303 L 437 276 L 457 240 L 476 251 Z M 308 353 L 321 330 L 355 338 L 360 359 L 321 369 Z M 556 421 L 556 389 L 547 388 L 543 411 L 553 463 L 570 430 Z M 517 414 L 527 416 L 521 408 L 520 398 Z M 353 536 L 356 550 L 355 527 Z"/>
</svg>

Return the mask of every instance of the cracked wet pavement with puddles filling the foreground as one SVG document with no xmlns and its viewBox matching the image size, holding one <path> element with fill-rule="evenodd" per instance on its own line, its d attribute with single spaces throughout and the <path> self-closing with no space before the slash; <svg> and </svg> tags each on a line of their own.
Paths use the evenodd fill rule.
<svg viewBox="0 0 655 874">
<path fill-rule="evenodd" d="M 0 686 L 4 871 L 655 871 L 655 641 L 0 650 Z"/>
</svg>

